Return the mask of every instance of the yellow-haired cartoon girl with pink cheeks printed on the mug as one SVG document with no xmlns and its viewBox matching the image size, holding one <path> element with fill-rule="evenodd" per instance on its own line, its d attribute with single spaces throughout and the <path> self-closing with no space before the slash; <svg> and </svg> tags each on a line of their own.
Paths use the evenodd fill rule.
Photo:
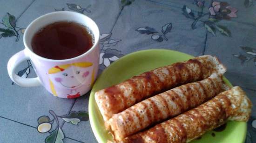
<svg viewBox="0 0 256 143">
<path fill-rule="evenodd" d="M 79 87 L 90 86 L 84 85 L 88 80 L 92 80 L 91 62 L 76 62 L 72 64 L 58 65 L 48 70 L 50 88 L 55 96 L 57 88 L 68 90 L 67 98 L 76 98 L 81 96 Z M 93 82 L 93 81 L 92 81 Z M 90 82 L 89 82 L 90 83 Z"/>
</svg>

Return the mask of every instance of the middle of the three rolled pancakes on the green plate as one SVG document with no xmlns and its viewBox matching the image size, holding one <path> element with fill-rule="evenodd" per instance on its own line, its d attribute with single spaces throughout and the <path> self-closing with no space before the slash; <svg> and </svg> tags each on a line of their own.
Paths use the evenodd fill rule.
<svg viewBox="0 0 256 143">
<path fill-rule="evenodd" d="M 145 99 L 113 115 L 106 122 L 106 128 L 110 127 L 115 140 L 120 141 L 149 125 L 199 106 L 225 90 L 229 90 L 229 87 L 222 81 L 222 76 L 213 74 L 205 80 L 175 87 Z"/>
</svg>

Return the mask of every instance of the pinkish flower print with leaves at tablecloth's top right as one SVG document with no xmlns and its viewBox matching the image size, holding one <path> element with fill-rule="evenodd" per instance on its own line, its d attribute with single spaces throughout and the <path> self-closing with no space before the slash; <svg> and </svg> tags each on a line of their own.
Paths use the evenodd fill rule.
<svg viewBox="0 0 256 143">
<path fill-rule="evenodd" d="M 197 14 L 186 5 L 182 8 L 182 14 L 188 19 L 193 19 L 191 29 L 194 30 L 198 26 L 204 26 L 213 36 L 216 36 L 216 31 L 219 31 L 222 35 L 231 37 L 228 26 L 219 25 L 218 22 L 222 19 L 236 18 L 236 8 L 229 6 L 227 2 L 213 1 L 209 7 L 209 12 L 203 13 L 205 8 L 204 0 L 195 0 L 194 4 L 201 8 L 201 11 L 197 12 Z"/>
</svg>

